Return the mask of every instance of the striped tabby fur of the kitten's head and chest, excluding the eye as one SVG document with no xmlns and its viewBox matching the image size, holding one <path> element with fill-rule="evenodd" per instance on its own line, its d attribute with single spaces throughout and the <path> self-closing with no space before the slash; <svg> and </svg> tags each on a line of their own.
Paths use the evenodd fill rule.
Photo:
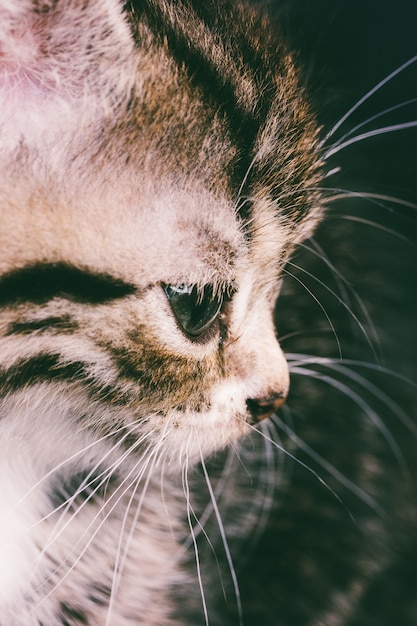
<svg viewBox="0 0 417 626">
<path fill-rule="evenodd" d="M 315 121 L 238 2 L 0 23 L 0 625 L 183 623 L 182 474 L 287 392 L 272 313 L 321 217 Z M 200 341 L 181 284 L 228 294 Z"/>
</svg>

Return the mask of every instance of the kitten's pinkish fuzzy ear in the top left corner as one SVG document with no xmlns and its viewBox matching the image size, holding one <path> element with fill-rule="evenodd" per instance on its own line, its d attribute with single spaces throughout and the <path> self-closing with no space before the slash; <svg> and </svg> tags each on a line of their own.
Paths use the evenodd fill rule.
<svg viewBox="0 0 417 626">
<path fill-rule="evenodd" d="M 0 97 L 120 92 L 132 47 L 117 0 L 0 0 Z"/>
</svg>

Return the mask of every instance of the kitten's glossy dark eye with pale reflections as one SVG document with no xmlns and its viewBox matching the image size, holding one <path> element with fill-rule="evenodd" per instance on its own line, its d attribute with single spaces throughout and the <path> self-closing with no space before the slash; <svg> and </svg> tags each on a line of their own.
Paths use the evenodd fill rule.
<svg viewBox="0 0 417 626">
<path fill-rule="evenodd" d="M 191 337 L 202 335 L 212 325 L 223 303 L 223 295 L 213 294 L 211 285 L 202 292 L 189 285 L 164 285 L 164 290 L 178 324 Z"/>
</svg>

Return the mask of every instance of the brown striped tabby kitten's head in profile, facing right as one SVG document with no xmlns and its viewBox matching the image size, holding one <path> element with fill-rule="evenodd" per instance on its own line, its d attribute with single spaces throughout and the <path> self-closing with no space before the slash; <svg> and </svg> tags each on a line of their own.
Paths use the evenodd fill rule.
<svg viewBox="0 0 417 626">
<path fill-rule="evenodd" d="M 236 3 L 0 15 L 4 393 L 175 461 L 227 445 L 288 392 L 273 312 L 321 216 L 291 56 Z"/>
</svg>

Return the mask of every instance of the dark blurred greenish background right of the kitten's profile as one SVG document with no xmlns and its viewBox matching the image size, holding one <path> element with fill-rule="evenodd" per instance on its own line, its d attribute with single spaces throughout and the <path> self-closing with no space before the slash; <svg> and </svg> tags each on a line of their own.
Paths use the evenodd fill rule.
<svg viewBox="0 0 417 626">
<path fill-rule="evenodd" d="M 417 55 L 415 0 L 275 0 L 269 8 L 298 51 L 323 134 Z M 364 102 L 332 140 L 413 98 L 417 62 Z M 411 120 L 417 120 L 416 102 L 358 132 Z M 288 266 L 295 278 L 285 280 L 276 323 L 287 353 L 342 357 L 351 375 L 315 363 L 315 378 L 292 376 L 275 433 L 312 472 L 277 453 L 276 495 L 266 528 L 235 551 L 243 621 L 415 626 L 417 128 L 358 142 L 326 167 L 341 168 L 323 182 L 333 190 L 326 195 L 349 190 L 357 197 L 330 203 L 310 249 L 296 253 Z M 258 471 L 267 482 L 265 470 Z M 352 493 L 340 475 L 376 505 Z M 252 485 L 244 498 L 258 495 Z M 224 571 L 227 579 L 227 565 Z M 233 591 L 210 623 L 239 624 Z"/>
</svg>

